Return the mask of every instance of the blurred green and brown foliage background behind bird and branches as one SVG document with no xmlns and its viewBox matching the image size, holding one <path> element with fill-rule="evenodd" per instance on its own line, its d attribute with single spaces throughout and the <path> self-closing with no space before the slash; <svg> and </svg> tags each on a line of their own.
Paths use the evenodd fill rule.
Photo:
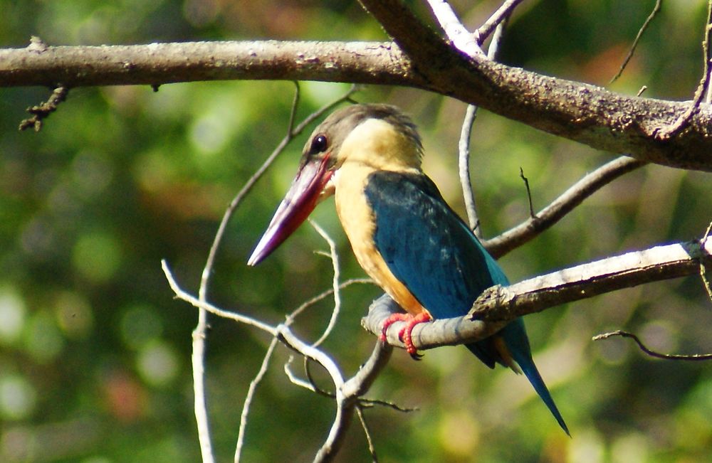
<svg viewBox="0 0 712 463">
<path fill-rule="evenodd" d="M 411 2 L 429 18 L 424 2 Z M 473 28 L 498 1 L 452 1 Z M 501 60 L 607 85 L 654 1 L 525 1 Z M 352 1 L 0 1 L 0 46 L 99 45 L 239 39 L 385 40 Z M 706 2 L 666 1 L 612 90 L 689 100 L 701 74 Z M 18 132 L 43 88 L 0 90 L 0 461 L 195 462 L 191 331 L 197 314 L 172 299 L 159 261 L 196 292 L 226 205 L 286 131 L 294 85 L 214 82 L 78 88 L 40 133 Z M 348 85 L 302 83 L 298 116 Z M 462 212 L 456 147 L 464 105 L 439 95 L 367 87 L 355 99 L 390 102 L 422 130 L 426 171 Z M 331 284 L 325 243 L 305 226 L 256 268 L 246 259 L 288 183 L 296 140 L 237 211 L 216 262 L 210 299 L 277 323 Z M 472 179 L 483 232 L 493 236 L 615 154 L 557 139 L 481 111 Z M 648 166 L 585 201 L 553 229 L 511 252 L 511 280 L 627 250 L 701 236 L 710 220 L 709 174 Z M 337 241 L 342 276 L 362 277 L 333 203 L 315 219 Z M 357 285 L 325 349 L 353 372 L 375 339 L 359 319 L 379 295 Z M 325 301 L 295 330 L 315 339 Z M 712 351 L 712 306 L 699 277 L 648 284 L 549 309 L 526 320 L 535 359 L 572 431 L 558 429 L 525 378 L 490 371 L 466 349 L 414 362 L 392 358 L 370 396 L 417 407 L 366 411 L 384 462 L 712 461 L 712 364 L 658 361 L 651 348 Z M 248 383 L 270 341 L 211 317 L 206 376 L 219 461 L 234 454 Z M 310 461 L 333 418 L 330 400 L 291 385 L 279 347 L 253 403 L 247 462 Z M 298 366 L 300 362 L 297 362 Z M 295 370 L 298 370 L 295 367 Z M 325 387 L 328 383 L 324 383 Z M 368 461 L 352 426 L 340 461 Z"/>
</svg>

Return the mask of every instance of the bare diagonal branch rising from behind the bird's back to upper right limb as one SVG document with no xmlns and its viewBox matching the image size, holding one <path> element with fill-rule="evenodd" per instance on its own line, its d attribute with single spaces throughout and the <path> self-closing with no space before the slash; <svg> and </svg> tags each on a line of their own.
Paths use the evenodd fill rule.
<svg viewBox="0 0 712 463">
<path fill-rule="evenodd" d="M 620 156 L 577 181 L 549 206 L 536 213 L 534 218 L 482 244 L 494 257 L 502 257 L 550 228 L 603 186 L 645 164 L 628 156 Z"/>
</svg>

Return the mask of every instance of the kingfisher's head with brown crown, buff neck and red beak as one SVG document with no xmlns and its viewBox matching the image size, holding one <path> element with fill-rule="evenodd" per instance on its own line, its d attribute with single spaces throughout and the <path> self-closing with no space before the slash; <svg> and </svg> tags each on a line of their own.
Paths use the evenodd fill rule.
<svg viewBox="0 0 712 463">
<path fill-rule="evenodd" d="M 337 188 L 339 169 L 420 171 L 422 144 L 415 124 L 397 107 L 352 105 L 333 112 L 307 140 L 297 175 L 248 265 L 257 265 Z"/>
</svg>

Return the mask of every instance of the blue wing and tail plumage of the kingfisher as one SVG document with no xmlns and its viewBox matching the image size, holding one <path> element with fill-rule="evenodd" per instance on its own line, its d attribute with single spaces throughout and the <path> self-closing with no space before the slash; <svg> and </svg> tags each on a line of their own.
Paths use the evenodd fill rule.
<svg viewBox="0 0 712 463">
<path fill-rule="evenodd" d="M 369 176 L 365 194 L 375 215 L 376 248 L 393 275 L 434 318 L 462 316 L 485 289 L 509 284 L 497 262 L 427 176 L 376 171 Z M 493 341 L 498 336 L 568 434 L 534 364 L 521 319 L 467 347 L 493 368 L 495 363 L 504 364 Z"/>
</svg>

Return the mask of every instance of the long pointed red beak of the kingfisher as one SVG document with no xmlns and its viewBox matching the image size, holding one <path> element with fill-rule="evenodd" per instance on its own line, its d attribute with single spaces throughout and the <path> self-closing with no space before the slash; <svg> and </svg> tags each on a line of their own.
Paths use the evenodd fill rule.
<svg viewBox="0 0 712 463">
<path fill-rule="evenodd" d="M 270 255 L 314 210 L 333 174 L 327 169 L 328 159 L 328 155 L 314 159 L 298 171 L 247 265 L 257 265 Z"/>
</svg>

